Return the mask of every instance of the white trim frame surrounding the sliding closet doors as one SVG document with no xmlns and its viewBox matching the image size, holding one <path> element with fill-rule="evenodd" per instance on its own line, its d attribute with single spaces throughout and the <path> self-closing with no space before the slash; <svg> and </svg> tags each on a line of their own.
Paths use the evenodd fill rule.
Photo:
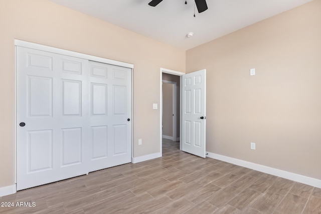
<svg viewBox="0 0 321 214">
<path fill-rule="evenodd" d="M 68 51 L 65 49 L 60 49 L 60 48 L 54 48 L 51 46 L 46 46 L 46 45 L 41 45 L 37 43 L 31 43 L 31 42 L 26 42 L 22 40 L 14 40 L 14 45 L 15 45 L 15 170 L 14 170 L 14 177 L 15 177 L 15 192 L 17 191 L 17 46 L 20 47 L 25 47 L 25 48 L 31 48 L 31 49 L 37 49 L 41 51 L 47 51 L 47 52 L 52 52 L 56 54 L 61 54 L 61 55 L 67 55 L 71 57 L 76 57 L 76 58 L 82 58 L 82 59 L 87 59 L 90 61 L 95 61 L 95 62 L 101 62 L 101 63 L 106 63 L 110 65 L 115 65 L 115 66 L 121 66 L 125 68 L 130 68 L 131 69 L 131 103 L 130 103 L 130 109 L 131 109 L 131 139 L 130 139 L 130 144 L 131 144 L 131 162 L 133 162 L 133 70 L 134 70 L 134 65 L 130 63 L 124 63 L 120 61 L 115 61 L 115 60 L 110 60 L 102 57 L 96 57 L 92 55 L 87 55 L 87 54 L 82 54 L 74 51 Z M 13 193 L 15 193 L 13 192 Z"/>
</svg>

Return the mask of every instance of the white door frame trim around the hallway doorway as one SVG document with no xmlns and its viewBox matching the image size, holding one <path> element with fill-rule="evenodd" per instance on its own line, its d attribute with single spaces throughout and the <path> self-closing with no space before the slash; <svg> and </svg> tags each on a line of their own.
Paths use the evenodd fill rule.
<svg viewBox="0 0 321 214">
<path fill-rule="evenodd" d="M 172 74 L 175 76 L 180 76 L 180 82 L 182 83 L 182 75 L 184 75 L 185 73 L 183 72 L 179 72 L 179 71 L 174 71 L 174 70 L 170 70 L 170 69 L 166 69 L 166 68 L 160 68 L 159 69 L 159 153 L 161 153 L 161 156 L 163 155 L 163 149 L 162 149 L 162 138 L 163 138 L 163 132 L 162 132 L 162 114 L 163 114 L 163 76 L 162 74 L 166 73 L 166 74 Z M 182 84 L 180 84 L 180 86 L 182 87 Z M 180 115 L 182 113 L 182 90 L 180 87 Z M 182 120 L 180 117 L 180 138 L 181 138 L 181 133 L 182 133 Z M 180 141 L 180 150 L 182 150 L 182 142 Z"/>
</svg>

